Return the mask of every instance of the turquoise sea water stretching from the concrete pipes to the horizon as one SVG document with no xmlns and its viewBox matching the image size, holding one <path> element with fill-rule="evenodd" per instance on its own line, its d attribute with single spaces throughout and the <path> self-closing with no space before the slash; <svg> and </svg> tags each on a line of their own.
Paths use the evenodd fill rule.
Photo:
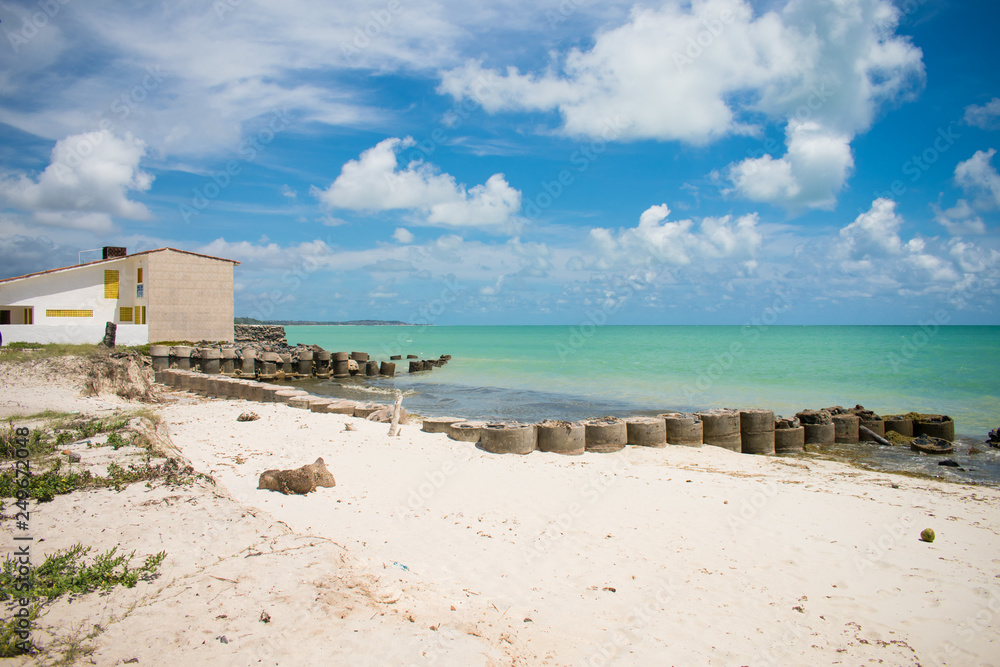
<svg viewBox="0 0 1000 667">
<path fill-rule="evenodd" d="M 289 326 L 290 344 L 402 354 L 394 379 L 314 391 L 405 392 L 423 415 L 580 419 L 712 407 L 862 404 L 950 415 L 958 434 L 1000 426 L 1000 327 Z M 408 375 L 405 356 L 452 355 Z M 360 385 L 360 386 L 359 386 Z"/>
</svg>

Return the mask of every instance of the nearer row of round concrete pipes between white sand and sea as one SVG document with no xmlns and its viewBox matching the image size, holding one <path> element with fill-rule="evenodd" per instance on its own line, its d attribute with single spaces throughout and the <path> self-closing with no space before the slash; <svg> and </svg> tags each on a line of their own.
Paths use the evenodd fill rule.
<svg viewBox="0 0 1000 667">
<path fill-rule="evenodd" d="M 926 434 L 953 440 L 955 424 L 944 415 L 894 416 L 862 420 L 857 414 L 804 410 L 794 419 L 775 419 L 770 410 L 716 409 L 694 414 L 669 412 L 656 417 L 602 417 L 580 422 L 546 420 L 537 424 L 467 421 L 457 417 L 424 419 L 422 429 L 453 440 L 478 443 L 496 454 L 609 453 L 627 445 L 666 447 L 712 445 L 744 454 L 802 452 L 807 444 L 833 445 L 868 440 L 862 426 L 884 436 L 886 429 L 913 437 Z"/>
</svg>

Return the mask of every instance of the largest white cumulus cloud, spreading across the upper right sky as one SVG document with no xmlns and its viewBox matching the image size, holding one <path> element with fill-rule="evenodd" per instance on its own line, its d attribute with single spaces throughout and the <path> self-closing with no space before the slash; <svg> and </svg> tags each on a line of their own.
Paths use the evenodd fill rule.
<svg viewBox="0 0 1000 667">
<path fill-rule="evenodd" d="M 784 157 L 734 165 L 733 192 L 756 201 L 828 207 L 853 167 L 850 142 L 879 107 L 923 82 L 922 53 L 892 34 L 886 0 L 789 1 L 755 14 L 745 0 L 636 8 L 630 20 L 545 72 L 471 61 L 440 90 L 489 112 L 556 111 L 561 131 L 603 139 L 703 144 L 787 123 Z"/>
</svg>

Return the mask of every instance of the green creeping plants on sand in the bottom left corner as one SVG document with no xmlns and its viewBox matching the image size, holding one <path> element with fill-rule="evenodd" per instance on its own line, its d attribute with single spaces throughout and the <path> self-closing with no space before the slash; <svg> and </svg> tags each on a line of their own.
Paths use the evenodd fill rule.
<svg viewBox="0 0 1000 667">
<path fill-rule="evenodd" d="M 149 581 L 157 576 L 157 570 L 167 557 L 161 551 L 152 556 L 146 556 L 143 564 L 132 567 L 135 552 L 128 555 L 117 553 L 118 547 L 97 555 L 91 563 L 84 558 L 90 552 L 90 547 L 74 544 L 68 549 L 56 551 L 49 555 L 39 566 L 28 566 L 28 572 L 19 573 L 19 563 L 8 556 L 0 568 L 0 601 L 20 600 L 27 598 L 28 621 L 34 624 L 44 605 L 51 603 L 62 595 L 86 595 L 92 591 L 109 591 L 115 586 L 133 588 L 140 581 Z M 18 580 L 27 579 L 31 587 L 27 591 L 18 590 Z M 11 618 L 0 625 L 0 657 L 11 658 L 22 655 L 26 651 L 24 645 L 18 646 L 20 637 L 17 633 L 17 618 Z M 100 626 L 94 626 L 94 631 L 84 639 L 93 639 L 102 631 Z M 37 650 L 30 647 L 28 652 Z M 67 647 L 64 664 L 72 664 L 76 657 L 92 652 L 81 642 L 74 641 Z"/>
</svg>

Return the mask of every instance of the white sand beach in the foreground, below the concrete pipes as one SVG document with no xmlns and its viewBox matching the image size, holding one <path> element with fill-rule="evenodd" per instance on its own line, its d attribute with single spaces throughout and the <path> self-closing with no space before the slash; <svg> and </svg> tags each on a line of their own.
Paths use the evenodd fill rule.
<svg viewBox="0 0 1000 667">
<path fill-rule="evenodd" d="M 0 416 L 137 407 L 68 371 L 0 380 Z M 996 489 L 715 447 L 498 456 L 419 423 L 165 396 L 161 435 L 214 484 L 33 508 L 36 563 L 167 552 L 155 580 L 41 619 L 101 626 L 82 664 L 1000 664 Z M 336 487 L 257 489 L 317 457 Z"/>
</svg>

